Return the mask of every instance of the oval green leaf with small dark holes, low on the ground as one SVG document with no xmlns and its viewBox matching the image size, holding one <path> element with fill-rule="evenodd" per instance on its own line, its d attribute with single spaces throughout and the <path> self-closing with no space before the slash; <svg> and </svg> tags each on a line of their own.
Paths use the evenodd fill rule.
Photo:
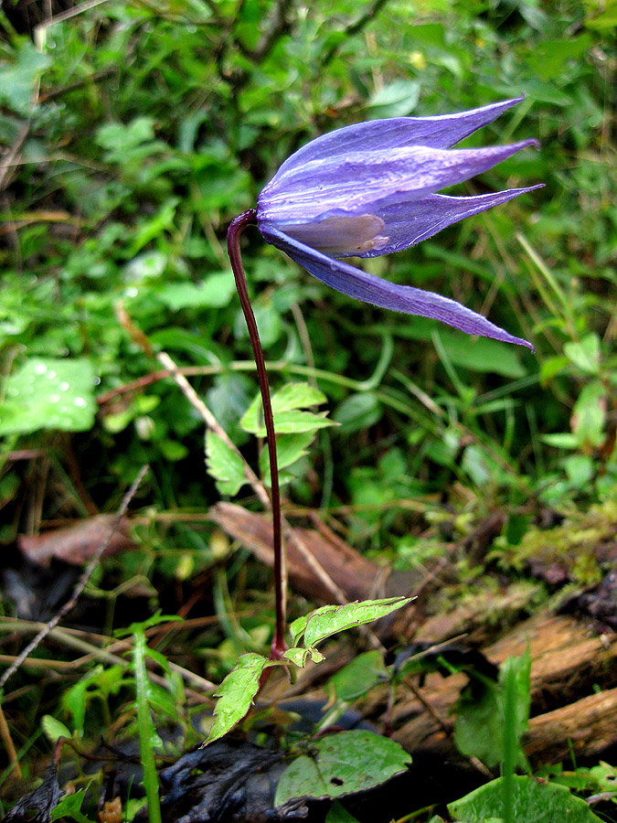
<svg viewBox="0 0 617 823">
<path fill-rule="evenodd" d="M 378 786 L 411 762 L 399 743 L 373 732 L 328 735 L 311 743 L 282 773 L 274 797 L 280 807 L 293 797 L 342 797 Z"/>
</svg>

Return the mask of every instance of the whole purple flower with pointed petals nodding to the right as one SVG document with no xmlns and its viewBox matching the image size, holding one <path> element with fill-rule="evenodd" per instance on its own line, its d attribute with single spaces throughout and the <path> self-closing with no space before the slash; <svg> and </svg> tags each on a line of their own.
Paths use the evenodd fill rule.
<svg viewBox="0 0 617 823">
<path fill-rule="evenodd" d="M 322 283 L 365 303 L 433 317 L 469 335 L 532 349 L 441 294 L 388 283 L 340 258 L 402 251 L 538 186 L 452 198 L 439 189 L 480 174 L 534 140 L 452 149 L 522 98 L 441 117 L 395 117 L 324 134 L 282 164 L 257 201 L 264 239 Z"/>
</svg>

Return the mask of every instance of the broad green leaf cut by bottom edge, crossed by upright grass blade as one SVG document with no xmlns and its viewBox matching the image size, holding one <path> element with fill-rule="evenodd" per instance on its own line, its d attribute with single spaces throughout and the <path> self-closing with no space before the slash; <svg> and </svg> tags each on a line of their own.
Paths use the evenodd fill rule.
<svg viewBox="0 0 617 823">
<path fill-rule="evenodd" d="M 492 780 L 451 803 L 448 811 L 452 818 L 464 823 L 485 823 L 488 818 L 501 818 L 503 785 L 503 777 Z M 601 818 L 593 814 L 584 800 L 572 795 L 567 786 L 516 776 L 513 788 L 516 823 L 601 823 Z"/>
</svg>

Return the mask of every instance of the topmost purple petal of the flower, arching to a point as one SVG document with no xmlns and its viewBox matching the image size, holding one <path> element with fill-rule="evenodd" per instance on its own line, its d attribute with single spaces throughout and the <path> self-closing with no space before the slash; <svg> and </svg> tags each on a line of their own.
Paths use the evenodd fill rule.
<svg viewBox="0 0 617 823">
<path fill-rule="evenodd" d="M 478 109 L 439 117 L 392 117 L 355 123 L 322 134 L 304 145 L 279 168 L 271 180 L 285 176 L 298 166 L 304 166 L 323 157 L 335 157 L 362 151 L 384 151 L 405 145 L 427 145 L 432 148 L 450 148 L 464 137 L 493 123 L 506 109 L 521 102 L 522 97 L 491 103 Z M 268 184 L 268 186 L 271 185 Z"/>
</svg>

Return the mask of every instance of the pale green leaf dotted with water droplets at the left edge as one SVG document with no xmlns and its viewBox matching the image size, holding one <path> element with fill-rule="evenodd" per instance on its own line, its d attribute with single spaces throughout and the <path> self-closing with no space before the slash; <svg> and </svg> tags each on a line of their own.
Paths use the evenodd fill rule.
<svg viewBox="0 0 617 823">
<path fill-rule="evenodd" d="M 85 432 L 92 427 L 94 369 L 90 360 L 31 358 L 5 379 L 0 437 L 38 429 Z"/>
</svg>

